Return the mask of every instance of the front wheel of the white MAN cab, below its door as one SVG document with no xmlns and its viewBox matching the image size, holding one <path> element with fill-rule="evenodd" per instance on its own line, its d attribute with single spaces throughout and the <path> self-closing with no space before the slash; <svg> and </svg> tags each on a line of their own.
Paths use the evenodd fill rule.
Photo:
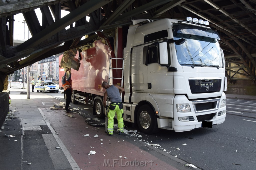
<svg viewBox="0 0 256 170">
<path fill-rule="evenodd" d="M 148 104 L 144 104 L 138 109 L 137 124 L 141 132 L 145 134 L 153 134 L 159 130 L 157 127 L 157 117 Z"/>
</svg>

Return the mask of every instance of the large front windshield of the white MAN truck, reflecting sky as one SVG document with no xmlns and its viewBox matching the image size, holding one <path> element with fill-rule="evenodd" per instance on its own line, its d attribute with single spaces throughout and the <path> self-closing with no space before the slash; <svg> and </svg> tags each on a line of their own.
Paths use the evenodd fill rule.
<svg viewBox="0 0 256 170">
<path fill-rule="evenodd" d="M 223 67 L 219 35 L 216 31 L 193 25 L 173 24 L 174 40 L 184 38 L 183 44 L 176 45 L 180 65 L 195 67 Z"/>
</svg>

